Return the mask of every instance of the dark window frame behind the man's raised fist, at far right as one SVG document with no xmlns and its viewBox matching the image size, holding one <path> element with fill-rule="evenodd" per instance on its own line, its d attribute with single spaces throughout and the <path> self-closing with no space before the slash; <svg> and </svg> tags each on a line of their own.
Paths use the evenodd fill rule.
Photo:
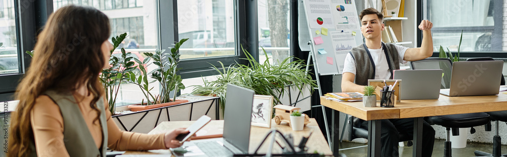
<svg viewBox="0 0 507 157">
<path fill-rule="evenodd" d="M 430 2 L 428 0 L 418 1 L 417 2 L 417 23 L 420 23 L 423 19 L 428 19 L 429 12 L 428 6 L 430 6 Z M 507 52 L 502 51 L 502 20 L 503 20 L 503 1 L 493 1 L 495 3 L 493 6 L 493 10 L 495 15 L 501 16 L 493 16 L 493 21 L 495 23 L 494 26 L 472 26 L 472 27 L 434 27 L 431 28 L 432 33 L 440 33 L 440 32 L 461 32 L 463 30 L 464 33 L 469 32 L 486 32 L 490 31 L 491 34 L 491 50 L 492 51 L 467 51 L 461 52 L 460 58 L 473 58 L 473 57 L 492 57 L 492 58 L 506 58 L 505 54 Z M 496 3 L 500 3 L 501 5 L 497 5 Z M 500 24 L 498 24 L 500 23 Z M 417 29 L 417 46 L 420 47 L 422 43 L 422 31 Z M 453 55 L 457 54 L 452 53 Z M 439 52 L 433 52 L 431 57 L 439 57 Z"/>
</svg>

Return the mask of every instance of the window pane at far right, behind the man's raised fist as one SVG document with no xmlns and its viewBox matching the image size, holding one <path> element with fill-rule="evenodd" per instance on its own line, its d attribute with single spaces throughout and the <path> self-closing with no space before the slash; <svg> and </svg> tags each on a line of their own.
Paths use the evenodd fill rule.
<svg viewBox="0 0 507 157">
<path fill-rule="evenodd" d="M 503 46 L 503 1 L 428 0 L 423 15 L 433 23 L 434 51 L 440 46 L 457 52 L 463 30 L 460 52 L 500 52 Z"/>
</svg>

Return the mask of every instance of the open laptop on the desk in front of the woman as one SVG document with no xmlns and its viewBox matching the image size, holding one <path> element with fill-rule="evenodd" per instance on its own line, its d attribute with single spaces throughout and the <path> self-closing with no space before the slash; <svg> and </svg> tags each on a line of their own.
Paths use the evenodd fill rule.
<svg viewBox="0 0 507 157">
<path fill-rule="evenodd" d="M 185 142 L 185 154 L 176 156 L 232 156 L 248 153 L 250 121 L 254 91 L 236 85 L 227 85 L 223 138 Z"/>
</svg>

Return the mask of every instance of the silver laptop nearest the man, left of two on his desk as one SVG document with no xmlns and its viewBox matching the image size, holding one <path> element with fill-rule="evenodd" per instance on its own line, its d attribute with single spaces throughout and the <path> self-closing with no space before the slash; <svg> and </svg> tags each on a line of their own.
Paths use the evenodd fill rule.
<svg viewBox="0 0 507 157">
<path fill-rule="evenodd" d="M 438 99 L 442 69 L 394 70 L 394 80 L 402 80 L 401 99 Z"/>
</svg>

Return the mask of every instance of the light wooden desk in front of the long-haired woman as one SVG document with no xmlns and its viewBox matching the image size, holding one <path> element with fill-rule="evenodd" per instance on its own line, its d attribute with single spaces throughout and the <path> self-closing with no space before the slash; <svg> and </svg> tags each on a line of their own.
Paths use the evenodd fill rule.
<svg viewBox="0 0 507 157">
<path fill-rule="evenodd" d="M 148 134 L 161 134 L 172 129 L 189 127 L 190 125 L 193 124 L 193 122 L 194 121 L 162 122 Z M 298 144 L 303 136 L 306 137 L 310 134 L 310 132 L 313 132 L 312 136 L 308 139 L 308 142 L 306 143 L 307 147 L 309 147 L 308 152 L 313 152 L 314 150 L 317 150 L 317 152 L 319 153 L 332 155 L 333 152 L 331 152 L 328 143 L 325 141 L 324 135 L 322 135 L 322 132 L 320 131 L 320 128 L 317 125 L 317 122 L 315 121 L 315 119 L 310 119 L 310 122 L 311 123 L 309 123 L 303 131 L 293 131 L 291 127 L 289 127 L 288 125 L 284 125 L 285 123 L 282 122 L 281 125 L 276 125 L 274 123 L 274 120 L 272 120 L 271 129 L 275 128 L 283 134 L 292 133 L 295 143 Z M 223 120 L 211 121 L 202 129 L 204 130 L 218 129 L 220 130 L 220 132 L 223 132 L 223 126 L 224 126 Z M 268 132 L 271 129 L 253 126 L 251 127 L 250 143 L 248 148 L 249 153 L 253 153 L 253 151 L 255 151 L 255 149 L 259 146 L 261 141 L 264 139 L 264 137 L 268 134 Z M 266 142 L 259 150 L 259 153 L 266 153 L 267 148 L 268 143 Z M 278 151 L 280 150 L 278 145 L 275 144 L 273 149 L 276 150 L 275 151 L 276 153 L 280 153 L 280 151 Z M 125 154 L 171 154 L 171 151 L 169 149 L 159 149 L 149 151 L 127 151 L 125 152 Z"/>
</svg>

